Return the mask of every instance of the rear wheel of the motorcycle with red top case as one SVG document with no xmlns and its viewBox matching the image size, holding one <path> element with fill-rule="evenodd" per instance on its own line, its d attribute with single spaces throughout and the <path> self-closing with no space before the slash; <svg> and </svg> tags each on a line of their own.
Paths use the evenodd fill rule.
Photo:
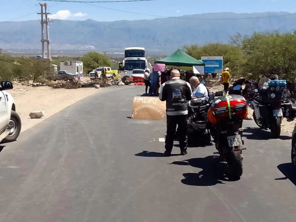
<svg viewBox="0 0 296 222">
<path fill-rule="evenodd" d="M 241 152 L 232 149 L 229 153 L 224 154 L 224 156 L 229 166 L 230 176 L 240 178 L 243 174 L 243 157 Z"/>
</svg>

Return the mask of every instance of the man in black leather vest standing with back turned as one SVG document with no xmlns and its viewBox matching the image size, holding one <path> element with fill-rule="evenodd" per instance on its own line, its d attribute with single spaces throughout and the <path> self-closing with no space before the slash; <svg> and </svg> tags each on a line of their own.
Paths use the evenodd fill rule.
<svg viewBox="0 0 296 222">
<path fill-rule="evenodd" d="M 173 149 L 176 126 L 181 155 L 187 154 L 187 101 L 191 100 L 192 91 L 188 82 L 180 79 L 180 72 L 171 71 L 172 79 L 161 86 L 159 99 L 166 101 L 167 111 L 167 135 L 165 137 L 165 152 L 169 156 Z"/>
</svg>

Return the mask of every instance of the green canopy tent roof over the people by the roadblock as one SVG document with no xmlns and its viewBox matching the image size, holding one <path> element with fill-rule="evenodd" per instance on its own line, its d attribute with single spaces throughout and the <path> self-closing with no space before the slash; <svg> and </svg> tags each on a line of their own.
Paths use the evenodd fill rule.
<svg viewBox="0 0 296 222">
<path fill-rule="evenodd" d="M 173 54 L 162 60 L 155 60 L 154 63 L 166 64 L 169 66 L 205 66 L 202 60 L 197 60 L 178 49 Z"/>
</svg>

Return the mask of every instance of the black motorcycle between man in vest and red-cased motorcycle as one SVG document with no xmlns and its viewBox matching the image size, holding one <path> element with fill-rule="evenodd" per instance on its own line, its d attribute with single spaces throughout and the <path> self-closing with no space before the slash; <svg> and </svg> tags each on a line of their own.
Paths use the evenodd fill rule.
<svg viewBox="0 0 296 222">
<path fill-rule="evenodd" d="M 200 142 L 203 145 L 211 143 L 211 134 L 208 129 L 207 111 L 211 107 L 208 97 L 202 93 L 196 93 L 188 103 L 187 136 L 188 142 Z"/>
</svg>

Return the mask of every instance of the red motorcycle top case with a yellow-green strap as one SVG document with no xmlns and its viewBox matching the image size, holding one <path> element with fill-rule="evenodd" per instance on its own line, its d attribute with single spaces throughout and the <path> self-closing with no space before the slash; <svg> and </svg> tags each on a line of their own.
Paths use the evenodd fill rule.
<svg viewBox="0 0 296 222">
<path fill-rule="evenodd" d="M 214 100 L 211 111 L 218 120 L 244 119 L 248 114 L 244 96 L 226 95 Z"/>
</svg>

